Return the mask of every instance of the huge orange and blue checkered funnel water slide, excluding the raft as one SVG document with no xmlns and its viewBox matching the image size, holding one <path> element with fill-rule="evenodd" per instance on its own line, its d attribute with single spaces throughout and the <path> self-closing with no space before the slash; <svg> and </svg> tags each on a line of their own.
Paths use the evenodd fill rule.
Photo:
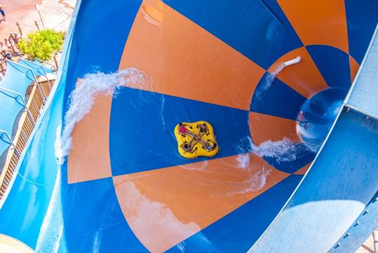
<svg viewBox="0 0 378 253">
<path fill-rule="evenodd" d="M 0 233 L 35 252 L 354 252 L 378 226 L 377 21 L 374 0 L 78 1 Z M 196 121 L 215 156 L 180 156 Z"/>
</svg>

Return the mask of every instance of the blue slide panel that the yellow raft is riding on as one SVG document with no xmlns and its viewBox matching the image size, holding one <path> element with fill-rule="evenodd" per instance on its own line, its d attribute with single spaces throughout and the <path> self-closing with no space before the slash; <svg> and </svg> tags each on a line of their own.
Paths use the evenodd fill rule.
<svg viewBox="0 0 378 253">
<path fill-rule="evenodd" d="M 110 119 L 110 160 L 113 175 L 198 162 L 177 151 L 173 130 L 182 121 L 208 121 L 220 152 L 214 158 L 247 152 L 248 111 L 148 91 L 121 88 L 113 99 Z M 127 156 L 125 155 L 127 154 Z"/>
</svg>

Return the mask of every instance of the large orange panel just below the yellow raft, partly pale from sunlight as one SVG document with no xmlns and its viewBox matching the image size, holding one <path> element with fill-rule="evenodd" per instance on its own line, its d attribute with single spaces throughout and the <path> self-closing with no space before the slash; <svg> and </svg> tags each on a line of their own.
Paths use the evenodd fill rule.
<svg viewBox="0 0 378 253">
<path fill-rule="evenodd" d="M 245 168 L 238 167 L 242 164 Z M 264 185 L 262 175 L 268 172 Z M 133 233 L 149 251 L 164 252 L 288 175 L 258 156 L 244 154 L 113 179 Z"/>
</svg>

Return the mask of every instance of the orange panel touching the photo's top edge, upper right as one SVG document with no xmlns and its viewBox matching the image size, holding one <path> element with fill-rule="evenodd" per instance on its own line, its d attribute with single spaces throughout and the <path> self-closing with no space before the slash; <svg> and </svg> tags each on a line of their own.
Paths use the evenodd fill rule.
<svg viewBox="0 0 378 253">
<path fill-rule="evenodd" d="M 304 46 L 328 45 L 349 53 L 344 0 L 278 0 Z"/>
</svg>

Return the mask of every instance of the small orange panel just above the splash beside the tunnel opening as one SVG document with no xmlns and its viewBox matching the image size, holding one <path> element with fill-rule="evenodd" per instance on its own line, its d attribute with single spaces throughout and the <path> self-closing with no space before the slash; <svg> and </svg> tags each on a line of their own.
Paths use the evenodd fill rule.
<svg viewBox="0 0 378 253">
<path fill-rule="evenodd" d="M 296 121 L 266 114 L 250 112 L 250 135 L 256 145 L 272 140 L 279 141 L 285 137 L 292 142 L 300 142 L 296 131 Z"/>
</svg>

